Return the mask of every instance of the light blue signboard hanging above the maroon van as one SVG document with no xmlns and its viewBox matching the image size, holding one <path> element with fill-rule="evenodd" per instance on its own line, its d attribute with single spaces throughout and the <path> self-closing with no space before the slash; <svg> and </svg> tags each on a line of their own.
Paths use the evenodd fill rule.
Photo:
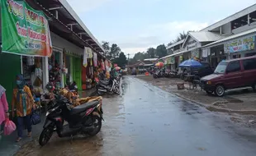
<svg viewBox="0 0 256 156">
<path fill-rule="evenodd" d="M 225 53 L 236 53 L 255 49 L 255 36 L 236 39 L 224 44 Z"/>
</svg>

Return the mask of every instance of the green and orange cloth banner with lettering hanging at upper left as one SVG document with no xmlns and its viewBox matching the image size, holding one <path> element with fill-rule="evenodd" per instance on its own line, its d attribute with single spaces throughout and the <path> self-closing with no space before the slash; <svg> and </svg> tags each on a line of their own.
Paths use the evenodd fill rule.
<svg viewBox="0 0 256 156">
<path fill-rule="evenodd" d="M 47 17 L 22 0 L 0 0 L 2 52 L 26 56 L 51 56 Z"/>
</svg>

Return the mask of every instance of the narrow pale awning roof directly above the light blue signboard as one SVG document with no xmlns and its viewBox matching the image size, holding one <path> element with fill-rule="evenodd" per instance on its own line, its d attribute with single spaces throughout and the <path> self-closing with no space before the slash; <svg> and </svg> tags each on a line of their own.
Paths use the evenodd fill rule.
<svg viewBox="0 0 256 156">
<path fill-rule="evenodd" d="M 244 31 L 242 33 L 239 33 L 239 34 L 233 34 L 233 35 L 230 35 L 229 37 L 226 37 L 224 39 L 220 39 L 214 43 L 211 43 L 211 44 L 207 44 L 201 48 L 210 48 L 210 47 L 215 47 L 217 45 L 220 45 L 222 44 L 223 42 L 227 41 L 227 40 L 231 40 L 231 39 L 235 39 L 235 38 L 239 38 L 241 36 L 244 36 L 244 35 L 247 35 L 247 34 L 254 34 L 256 33 L 256 28 L 252 29 L 252 30 L 247 30 L 247 31 Z M 254 34 L 255 35 L 255 34 Z"/>
</svg>

